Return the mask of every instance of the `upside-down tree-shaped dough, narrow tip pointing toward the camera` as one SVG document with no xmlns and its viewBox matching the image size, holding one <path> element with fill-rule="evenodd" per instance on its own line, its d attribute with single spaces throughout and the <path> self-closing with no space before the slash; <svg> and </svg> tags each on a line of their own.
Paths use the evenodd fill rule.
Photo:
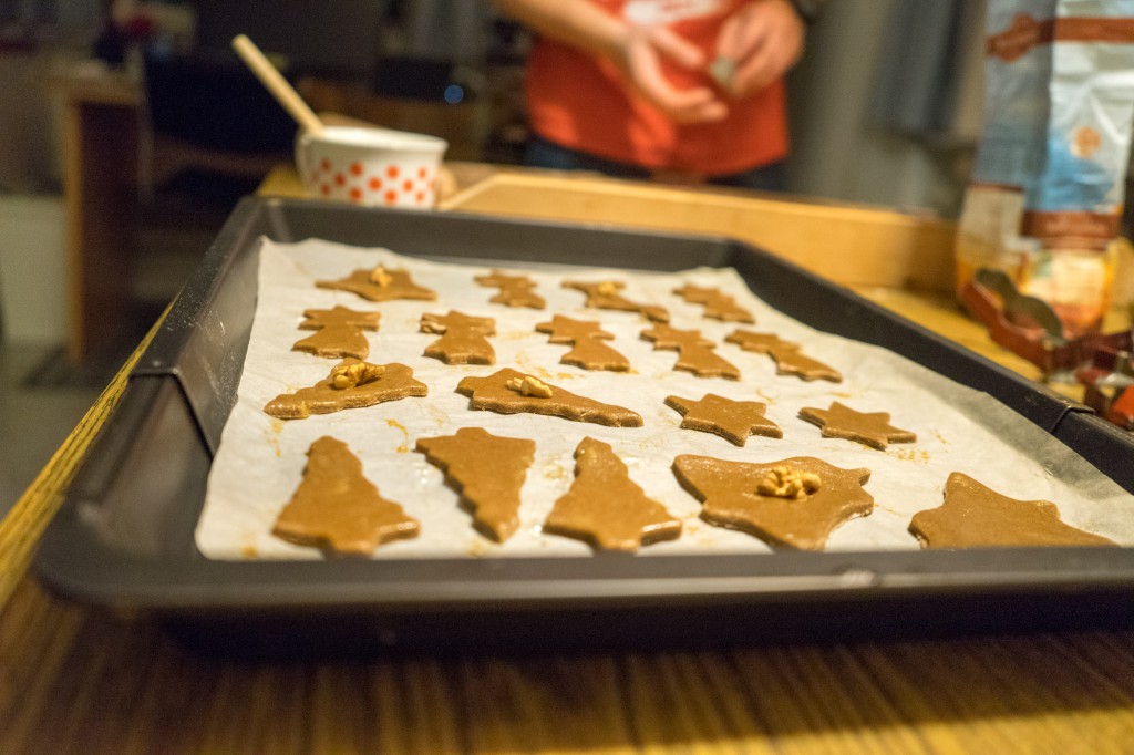
<svg viewBox="0 0 1134 755">
<path fill-rule="evenodd" d="M 479 532 L 498 543 L 516 532 L 519 490 L 535 458 L 535 441 L 462 427 L 456 435 L 422 438 L 416 450 L 457 489 Z"/>
</svg>

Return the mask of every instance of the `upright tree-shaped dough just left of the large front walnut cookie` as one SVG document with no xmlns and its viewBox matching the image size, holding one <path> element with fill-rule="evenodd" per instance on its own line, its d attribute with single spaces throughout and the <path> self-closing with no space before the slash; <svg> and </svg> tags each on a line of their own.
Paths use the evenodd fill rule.
<svg viewBox="0 0 1134 755">
<path fill-rule="evenodd" d="M 594 548 L 634 552 L 674 540 L 682 521 L 629 478 L 609 444 L 584 438 L 575 449 L 575 482 L 556 501 L 543 532 L 583 540 Z"/>
</svg>

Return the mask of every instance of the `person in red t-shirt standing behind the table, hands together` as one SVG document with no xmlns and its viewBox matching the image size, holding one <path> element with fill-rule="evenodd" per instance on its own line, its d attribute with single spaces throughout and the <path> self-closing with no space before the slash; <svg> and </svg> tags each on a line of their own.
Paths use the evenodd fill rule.
<svg viewBox="0 0 1134 755">
<path fill-rule="evenodd" d="M 526 162 L 782 189 L 789 0 L 496 0 L 532 27 Z"/>
</svg>

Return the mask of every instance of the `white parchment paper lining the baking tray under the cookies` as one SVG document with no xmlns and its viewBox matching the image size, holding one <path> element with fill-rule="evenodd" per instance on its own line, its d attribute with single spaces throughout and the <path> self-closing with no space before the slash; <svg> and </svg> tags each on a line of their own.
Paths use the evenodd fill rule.
<svg viewBox="0 0 1134 755">
<path fill-rule="evenodd" d="M 415 282 L 438 292 L 435 302 L 372 303 L 345 291 L 315 287 L 315 280 L 338 279 L 378 264 L 409 270 Z M 473 278 L 490 266 L 438 263 L 387 249 L 349 247 L 325 240 L 277 244 L 260 251 L 259 298 L 238 399 L 221 439 L 196 529 L 198 549 L 213 559 L 318 559 L 319 550 L 282 542 L 271 535 L 280 510 L 299 484 L 306 451 L 322 435 L 345 441 L 362 460 L 364 474 L 382 495 L 399 502 L 421 521 L 421 535 L 381 546 L 375 558 L 464 555 L 587 555 L 582 542 L 544 535 L 541 524 L 555 501 L 570 486 L 573 453 L 590 435 L 610 443 L 646 494 L 684 521 L 680 538 L 650 545 L 651 553 L 748 552 L 771 549 L 751 535 L 714 527 L 699 518 L 701 504 L 685 492 L 670 465 L 679 453 L 737 461 L 768 463 L 814 456 L 844 468 L 871 470 L 865 489 L 874 497 L 869 517 L 838 528 L 828 550 L 916 550 L 907 532 L 911 517 L 940 506 L 951 472 L 968 474 L 1006 495 L 1043 499 L 1058 504 L 1063 519 L 1076 527 L 1134 543 L 1134 497 L 1048 433 L 999 401 L 925 370 L 889 350 L 816 331 L 784 316 L 756 298 L 731 270 L 696 269 L 650 273 L 594 268 L 530 266 L 547 308 L 534 311 L 490 304 L 494 288 Z M 739 367 L 742 379 L 701 379 L 672 370 L 675 351 L 653 350 L 640 333 L 649 323 L 635 313 L 587 309 L 579 291 L 561 288 L 564 280 L 627 283 L 623 294 L 636 302 L 669 308 L 670 324 L 699 329 L 719 346 L 718 353 Z M 777 375 L 767 355 L 741 350 L 723 337 L 737 328 L 702 316 L 699 305 L 672 295 L 683 283 L 719 287 L 756 317 L 758 332 L 773 332 L 803 345 L 803 353 L 844 375 L 844 382 L 805 382 Z M 269 400 L 324 379 L 337 359 L 293 351 L 310 331 L 298 330 L 303 311 L 342 305 L 382 313 L 378 332 L 367 332 L 369 362 L 409 365 L 429 385 L 425 398 L 284 422 L 264 414 Z M 446 365 L 422 356 L 438 336 L 420 332 L 421 315 L 457 309 L 496 319 L 490 338 L 493 366 Z M 553 314 L 596 320 L 615 334 L 611 347 L 625 354 L 631 373 L 592 372 L 562 365 L 568 346 L 552 346 L 535 324 Z M 604 427 L 528 414 L 498 415 L 469 410 L 455 389 L 466 375 L 489 375 L 510 366 L 575 393 L 634 409 L 642 427 Z M 680 415 L 665 406 L 669 395 L 699 399 L 712 392 L 768 405 L 767 416 L 784 430 L 782 439 L 753 435 L 736 447 L 710 433 L 679 430 Z M 832 400 L 860 412 L 889 412 L 892 425 L 917 434 L 915 443 L 892 443 L 887 451 L 824 439 L 820 429 L 797 417 L 802 407 L 826 409 Z M 442 473 L 414 451 L 418 438 L 450 435 L 459 427 L 480 426 L 498 435 L 536 441 L 535 463 L 522 491 L 522 526 L 508 542 L 493 543 L 476 533 Z"/>
</svg>

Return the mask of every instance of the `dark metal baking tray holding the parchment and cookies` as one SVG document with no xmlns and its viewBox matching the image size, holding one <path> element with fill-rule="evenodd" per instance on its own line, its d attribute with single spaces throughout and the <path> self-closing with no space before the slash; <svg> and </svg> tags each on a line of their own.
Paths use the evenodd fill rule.
<svg viewBox="0 0 1134 755">
<path fill-rule="evenodd" d="M 200 650 L 703 646 L 1134 625 L 1134 549 L 770 555 L 210 561 L 194 545 L 235 402 L 261 236 L 401 254 L 677 271 L 734 266 L 820 330 L 988 392 L 1134 492 L 1134 439 L 1046 388 L 728 238 L 249 197 L 178 296 L 40 545 L 69 599 L 163 622 Z M 852 253 L 831 249 L 831 254 Z"/>
</svg>

